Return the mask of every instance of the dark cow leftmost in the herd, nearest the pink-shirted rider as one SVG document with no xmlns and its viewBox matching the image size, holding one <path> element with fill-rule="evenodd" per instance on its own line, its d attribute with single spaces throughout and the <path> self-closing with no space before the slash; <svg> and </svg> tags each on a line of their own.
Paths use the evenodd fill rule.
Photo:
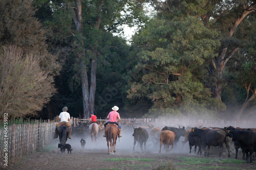
<svg viewBox="0 0 256 170">
<path fill-rule="evenodd" d="M 135 149 L 136 142 L 140 144 L 140 151 L 143 151 L 142 145 L 144 143 L 144 150 L 146 150 L 146 141 L 148 139 L 148 132 L 143 128 L 134 128 L 134 145 L 133 145 L 133 151 Z"/>
</svg>

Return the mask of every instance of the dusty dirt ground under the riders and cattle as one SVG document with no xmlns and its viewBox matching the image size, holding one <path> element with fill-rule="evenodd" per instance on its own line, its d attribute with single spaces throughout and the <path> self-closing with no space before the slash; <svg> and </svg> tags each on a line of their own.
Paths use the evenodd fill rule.
<svg viewBox="0 0 256 170">
<path fill-rule="evenodd" d="M 221 158 L 218 154 L 211 154 L 209 157 L 203 155 L 189 154 L 188 143 L 182 148 L 181 142 L 178 143 L 177 148 L 169 153 L 166 153 L 162 148 L 159 153 L 159 145 L 154 146 L 153 142 L 148 139 L 146 144 L 146 151 L 140 152 L 139 147 L 133 151 L 133 132 L 123 133 L 123 137 L 116 143 L 116 153 L 114 155 L 108 154 L 108 147 L 106 140 L 100 134 L 97 141 L 91 141 L 91 138 L 86 138 L 85 148 L 81 148 L 80 137 L 72 137 L 68 139 L 67 143 L 72 145 L 72 154 L 62 153 L 58 149 L 58 139 L 45 147 L 41 152 L 34 153 L 24 158 L 19 163 L 9 166 L 10 169 L 156 169 L 160 165 L 170 162 L 175 169 L 256 169 L 256 162 L 252 165 L 245 164 L 242 161 L 239 164 L 221 163 L 219 159 L 233 159 L 234 153 L 231 157 L 227 157 L 227 152 L 224 151 Z M 180 138 L 183 141 L 184 137 Z M 194 148 L 194 147 L 193 147 Z M 212 161 L 207 164 L 191 164 L 179 159 L 186 158 L 207 158 Z M 110 161 L 106 159 L 123 158 L 123 160 Z M 129 159 L 127 159 L 129 158 Z M 136 158 L 137 160 L 133 159 Z M 139 159 L 139 161 L 138 161 Z M 141 159 L 153 159 L 152 161 L 143 161 Z M 242 160 L 242 155 L 239 155 Z"/>
</svg>

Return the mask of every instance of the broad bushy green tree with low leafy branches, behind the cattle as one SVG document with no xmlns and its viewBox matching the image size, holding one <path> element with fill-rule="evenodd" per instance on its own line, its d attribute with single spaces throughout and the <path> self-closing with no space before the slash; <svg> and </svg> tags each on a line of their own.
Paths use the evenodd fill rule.
<svg viewBox="0 0 256 170">
<path fill-rule="evenodd" d="M 220 44 L 214 40 L 218 32 L 208 30 L 200 22 L 190 16 L 155 18 L 135 36 L 133 46 L 138 48 L 139 58 L 135 68 L 141 78 L 131 83 L 127 97 L 151 100 L 151 116 L 202 116 L 206 110 L 216 113 L 216 108 L 224 109 L 222 103 L 210 99 L 209 89 L 202 83 L 204 63 L 214 56 Z"/>
</svg>

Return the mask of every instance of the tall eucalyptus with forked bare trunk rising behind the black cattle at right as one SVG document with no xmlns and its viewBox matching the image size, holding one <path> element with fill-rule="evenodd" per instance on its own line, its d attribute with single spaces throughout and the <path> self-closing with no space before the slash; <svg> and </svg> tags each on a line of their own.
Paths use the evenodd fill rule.
<svg viewBox="0 0 256 170">
<path fill-rule="evenodd" d="M 252 29 L 251 21 L 255 17 L 255 1 L 149 1 L 151 5 L 165 17 L 199 18 L 205 28 L 218 30 L 221 45 L 209 59 L 205 85 L 210 87 L 214 98 L 222 101 L 222 85 L 224 72 L 231 58 L 236 56 L 239 50 L 248 45 L 248 32 Z M 242 28 L 242 29 L 241 29 Z M 242 32 L 241 32 L 242 31 Z M 243 36 L 241 36 L 243 35 Z M 244 61 L 246 55 L 244 55 Z"/>
</svg>

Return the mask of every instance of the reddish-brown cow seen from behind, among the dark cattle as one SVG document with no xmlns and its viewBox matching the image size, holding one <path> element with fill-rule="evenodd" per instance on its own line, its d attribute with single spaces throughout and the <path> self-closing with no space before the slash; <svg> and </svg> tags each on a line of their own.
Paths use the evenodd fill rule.
<svg viewBox="0 0 256 170">
<path fill-rule="evenodd" d="M 159 153 L 161 153 L 162 144 L 165 145 L 166 152 L 169 152 L 169 145 L 172 145 L 172 148 L 170 149 L 170 151 L 172 151 L 172 149 L 174 148 L 174 140 L 175 140 L 176 133 L 177 131 L 173 132 L 169 130 L 164 130 L 161 132 Z"/>
</svg>

